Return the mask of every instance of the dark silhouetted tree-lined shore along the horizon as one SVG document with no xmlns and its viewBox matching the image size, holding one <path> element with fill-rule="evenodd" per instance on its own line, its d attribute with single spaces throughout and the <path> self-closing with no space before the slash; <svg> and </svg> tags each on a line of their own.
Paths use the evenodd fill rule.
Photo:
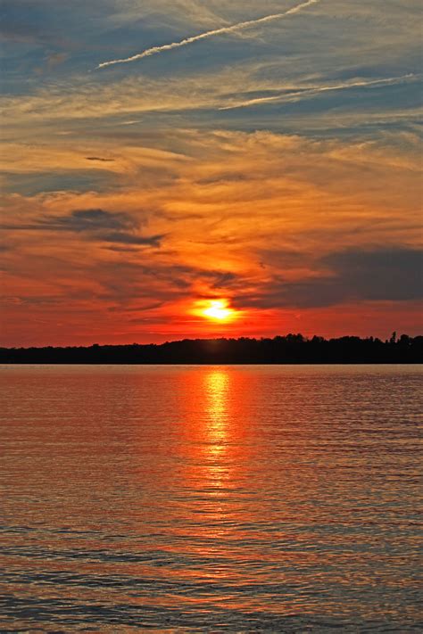
<svg viewBox="0 0 423 634">
<path fill-rule="evenodd" d="M 365 364 L 422 363 L 423 336 L 402 334 L 382 341 L 345 336 L 310 339 L 286 334 L 273 339 L 184 339 L 162 344 L 87 347 L 0 348 L 2 364 Z"/>
</svg>

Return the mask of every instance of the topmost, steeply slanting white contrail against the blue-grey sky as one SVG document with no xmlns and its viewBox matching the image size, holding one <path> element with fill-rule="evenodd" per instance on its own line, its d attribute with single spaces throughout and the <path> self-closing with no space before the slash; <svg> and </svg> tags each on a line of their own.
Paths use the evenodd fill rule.
<svg viewBox="0 0 423 634">
<path fill-rule="evenodd" d="M 200 33 L 197 36 L 182 39 L 180 42 L 173 42 L 172 44 L 165 44 L 162 46 L 153 46 L 153 48 L 147 48 L 142 53 L 137 53 L 136 55 L 132 55 L 131 57 L 125 57 L 121 60 L 111 60 L 110 62 L 102 62 L 101 64 L 98 64 L 96 68 L 104 69 L 106 66 L 112 66 L 112 64 L 126 64 L 128 62 L 136 62 L 137 60 L 142 60 L 143 57 L 149 57 L 150 55 L 162 53 L 162 51 L 170 51 L 172 48 L 179 48 L 179 46 L 187 46 L 188 44 L 197 42 L 200 39 L 205 39 L 206 37 L 214 37 L 222 35 L 223 33 L 235 33 L 236 31 L 248 29 L 249 27 L 255 27 L 257 24 L 263 24 L 264 22 L 270 22 L 273 20 L 280 20 L 281 18 L 285 18 L 286 15 L 292 15 L 293 13 L 303 11 L 303 9 L 311 6 L 311 4 L 317 4 L 318 2 L 320 2 L 320 0 L 307 0 L 307 2 L 297 4 L 292 9 L 288 9 L 288 11 L 283 13 L 273 13 L 272 15 L 265 15 L 263 18 L 258 18 L 257 20 L 238 22 L 237 24 L 232 24 L 229 27 L 221 27 L 221 29 L 206 31 L 205 33 Z"/>
</svg>

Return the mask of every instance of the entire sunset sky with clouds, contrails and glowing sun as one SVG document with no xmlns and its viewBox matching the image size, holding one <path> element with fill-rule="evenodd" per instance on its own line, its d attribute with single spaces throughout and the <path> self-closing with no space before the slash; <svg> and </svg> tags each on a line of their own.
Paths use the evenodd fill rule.
<svg viewBox="0 0 423 634">
<path fill-rule="evenodd" d="M 0 15 L 0 345 L 421 333 L 417 0 Z"/>
</svg>

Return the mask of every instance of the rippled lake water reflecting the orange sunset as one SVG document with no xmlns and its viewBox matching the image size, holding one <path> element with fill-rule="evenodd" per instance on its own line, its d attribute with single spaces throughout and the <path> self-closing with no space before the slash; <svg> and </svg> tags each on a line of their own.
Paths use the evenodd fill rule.
<svg viewBox="0 0 423 634">
<path fill-rule="evenodd" d="M 419 366 L 0 379 L 2 631 L 422 630 Z"/>
</svg>

